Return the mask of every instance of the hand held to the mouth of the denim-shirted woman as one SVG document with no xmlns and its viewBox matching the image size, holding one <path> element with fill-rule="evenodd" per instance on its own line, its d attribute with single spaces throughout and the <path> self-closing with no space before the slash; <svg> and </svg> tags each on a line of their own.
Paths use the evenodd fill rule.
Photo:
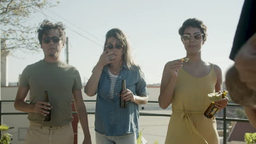
<svg viewBox="0 0 256 144">
<path fill-rule="evenodd" d="M 115 51 L 104 51 L 101 54 L 100 59 L 98 60 L 98 64 L 104 67 L 107 64 L 113 63 L 113 59 L 115 59 L 117 56 L 114 55 Z"/>
</svg>

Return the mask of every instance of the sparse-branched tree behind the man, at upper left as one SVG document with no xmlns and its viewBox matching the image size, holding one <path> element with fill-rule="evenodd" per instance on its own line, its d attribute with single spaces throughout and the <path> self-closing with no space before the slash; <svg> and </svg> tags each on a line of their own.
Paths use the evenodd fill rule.
<svg viewBox="0 0 256 144">
<path fill-rule="evenodd" d="M 1 53 L 15 50 L 38 51 L 36 28 L 27 21 L 31 14 L 55 6 L 46 0 L 0 0 Z"/>
</svg>

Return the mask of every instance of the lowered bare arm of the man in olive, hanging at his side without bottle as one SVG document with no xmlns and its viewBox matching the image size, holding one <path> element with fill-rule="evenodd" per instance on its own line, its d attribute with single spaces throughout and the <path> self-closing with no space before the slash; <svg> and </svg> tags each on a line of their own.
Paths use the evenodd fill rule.
<svg viewBox="0 0 256 144">
<path fill-rule="evenodd" d="M 83 144 L 91 143 L 91 135 L 90 135 L 89 125 L 88 125 L 88 115 L 87 115 L 86 107 L 84 105 L 81 89 L 76 89 L 73 91 L 73 98 L 74 98 L 75 109 L 77 110 L 79 122 L 84 131 Z"/>
</svg>

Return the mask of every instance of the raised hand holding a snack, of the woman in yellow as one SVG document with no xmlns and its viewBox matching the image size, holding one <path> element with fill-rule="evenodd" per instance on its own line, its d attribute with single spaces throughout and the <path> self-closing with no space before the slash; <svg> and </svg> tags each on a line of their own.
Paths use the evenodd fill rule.
<svg viewBox="0 0 256 144">
<path fill-rule="evenodd" d="M 183 62 L 180 59 L 176 59 L 174 61 L 167 62 L 165 67 L 172 77 L 178 77 L 179 69 L 183 66 L 182 63 Z"/>
</svg>

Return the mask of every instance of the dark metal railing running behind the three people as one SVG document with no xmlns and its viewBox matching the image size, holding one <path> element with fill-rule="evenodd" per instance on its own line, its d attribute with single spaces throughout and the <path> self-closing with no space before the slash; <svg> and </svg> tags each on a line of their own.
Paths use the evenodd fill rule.
<svg viewBox="0 0 256 144">
<path fill-rule="evenodd" d="M 28 114 L 26 112 L 2 112 L 2 103 L 8 103 L 8 102 L 14 102 L 14 100 L 0 100 L 0 124 L 2 124 L 2 116 L 3 115 L 27 115 Z M 84 100 L 84 102 L 96 102 L 96 100 Z M 148 103 L 158 103 L 158 101 L 148 101 Z M 228 106 L 241 107 L 241 105 L 237 105 L 237 104 L 228 104 Z M 95 114 L 95 112 L 87 112 L 87 113 L 89 115 Z M 73 114 L 77 114 L 77 112 L 73 112 Z M 139 112 L 139 115 L 140 116 L 171 117 L 171 115 L 167 115 L 167 114 L 146 113 L 146 112 Z M 226 130 L 227 130 L 226 122 L 249 122 L 248 119 L 227 118 L 226 117 L 226 107 L 223 109 L 223 117 L 216 117 L 216 120 L 223 121 L 223 144 L 226 144 Z"/>
</svg>

